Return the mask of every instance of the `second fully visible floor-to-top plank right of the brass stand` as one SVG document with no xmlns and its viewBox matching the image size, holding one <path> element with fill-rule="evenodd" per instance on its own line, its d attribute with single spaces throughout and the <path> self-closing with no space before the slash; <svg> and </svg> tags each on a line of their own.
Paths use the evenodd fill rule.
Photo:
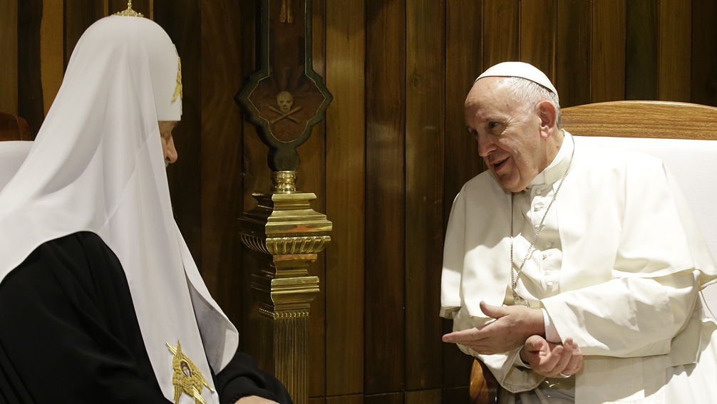
<svg viewBox="0 0 717 404">
<path fill-rule="evenodd" d="M 366 1 L 365 393 L 404 386 L 404 0 Z"/>
</svg>

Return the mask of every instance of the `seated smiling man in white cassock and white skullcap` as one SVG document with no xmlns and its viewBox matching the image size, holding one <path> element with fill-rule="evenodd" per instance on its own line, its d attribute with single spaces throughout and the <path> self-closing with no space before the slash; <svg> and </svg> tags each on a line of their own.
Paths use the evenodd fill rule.
<svg viewBox="0 0 717 404">
<path fill-rule="evenodd" d="M 490 368 L 503 403 L 713 402 L 698 291 L 717 268 L 663 163 L 576 145 L 526 63 L 481 74 L 465 120 L 488 171 L 452 206 L 443 340 Z"/>
</svg>

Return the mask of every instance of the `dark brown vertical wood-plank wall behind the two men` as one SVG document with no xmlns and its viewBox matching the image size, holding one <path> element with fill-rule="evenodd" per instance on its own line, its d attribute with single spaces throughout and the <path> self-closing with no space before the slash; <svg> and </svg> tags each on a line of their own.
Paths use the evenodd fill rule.
<svg viewBox="0 0 717 404">
<path fill-rule="evenodd" d="M 298 3 L 298 1 L 295 1 Z M 237 217 L 267 191 L 267 148 L 232 97 L 255 71 L 253 0 L 136 0 L 182 58 L 177 221 L 243 335 Z M 0 110 L 37 133 L 86 27 L 118 0 L 0 0 Z M 272 11 L 278 12 L 278 11 Z M 462 103 L 492 64 L 543 69 L 564 107 L 607 100 L 717 105 L 713 0 L 313 0 L 314 68 L 333 104 L 299 148 L 298 187 L 333 221 L 313 264 L 312 404 L 464 403 L 470 358 L 440 337 L 442 234 L 482 170 Z M 619 122 L 615 122 L 619 130 Z M 680 128 L 675 128 L 680 130 Z"/>
</svg>

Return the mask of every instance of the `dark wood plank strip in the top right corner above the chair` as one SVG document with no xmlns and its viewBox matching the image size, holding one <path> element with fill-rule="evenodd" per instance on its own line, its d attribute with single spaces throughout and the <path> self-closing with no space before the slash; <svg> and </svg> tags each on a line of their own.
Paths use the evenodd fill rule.
<svg viewBox="0 0 717 404">
<path fill-rule="evenodd" d="M 717 2 L 692 0 L 692 102 L 717 106 Z"/>
</svg>

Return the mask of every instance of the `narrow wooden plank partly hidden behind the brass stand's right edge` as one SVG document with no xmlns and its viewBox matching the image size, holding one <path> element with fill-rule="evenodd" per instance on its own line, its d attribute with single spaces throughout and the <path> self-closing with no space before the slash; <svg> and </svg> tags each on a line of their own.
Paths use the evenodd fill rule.
<svg viewBox="0 0 717 404">
<path fill-rule="evenodd" d="M 313 0 L 312 54 L 313 69 L 326 78 L 326 0 Z M 324 80 L 326 83 L 326 80 Z M 313 192 L 315 211 L 326 212 L 326 119 L 313 127 L 309 140 L 298 149 L 301 165 L 299 190 Z M 333 220 L 333 218 L 328 218 Z M 331 249 L 331 244 L 328 246 Z M 319 278 L 319 294 L 311 303 L 309 317 L 308 393 L 310 397 L 326 395 L 326 254 L 318 254 L 309 266 L 309 274 Z"/>
</svg>

